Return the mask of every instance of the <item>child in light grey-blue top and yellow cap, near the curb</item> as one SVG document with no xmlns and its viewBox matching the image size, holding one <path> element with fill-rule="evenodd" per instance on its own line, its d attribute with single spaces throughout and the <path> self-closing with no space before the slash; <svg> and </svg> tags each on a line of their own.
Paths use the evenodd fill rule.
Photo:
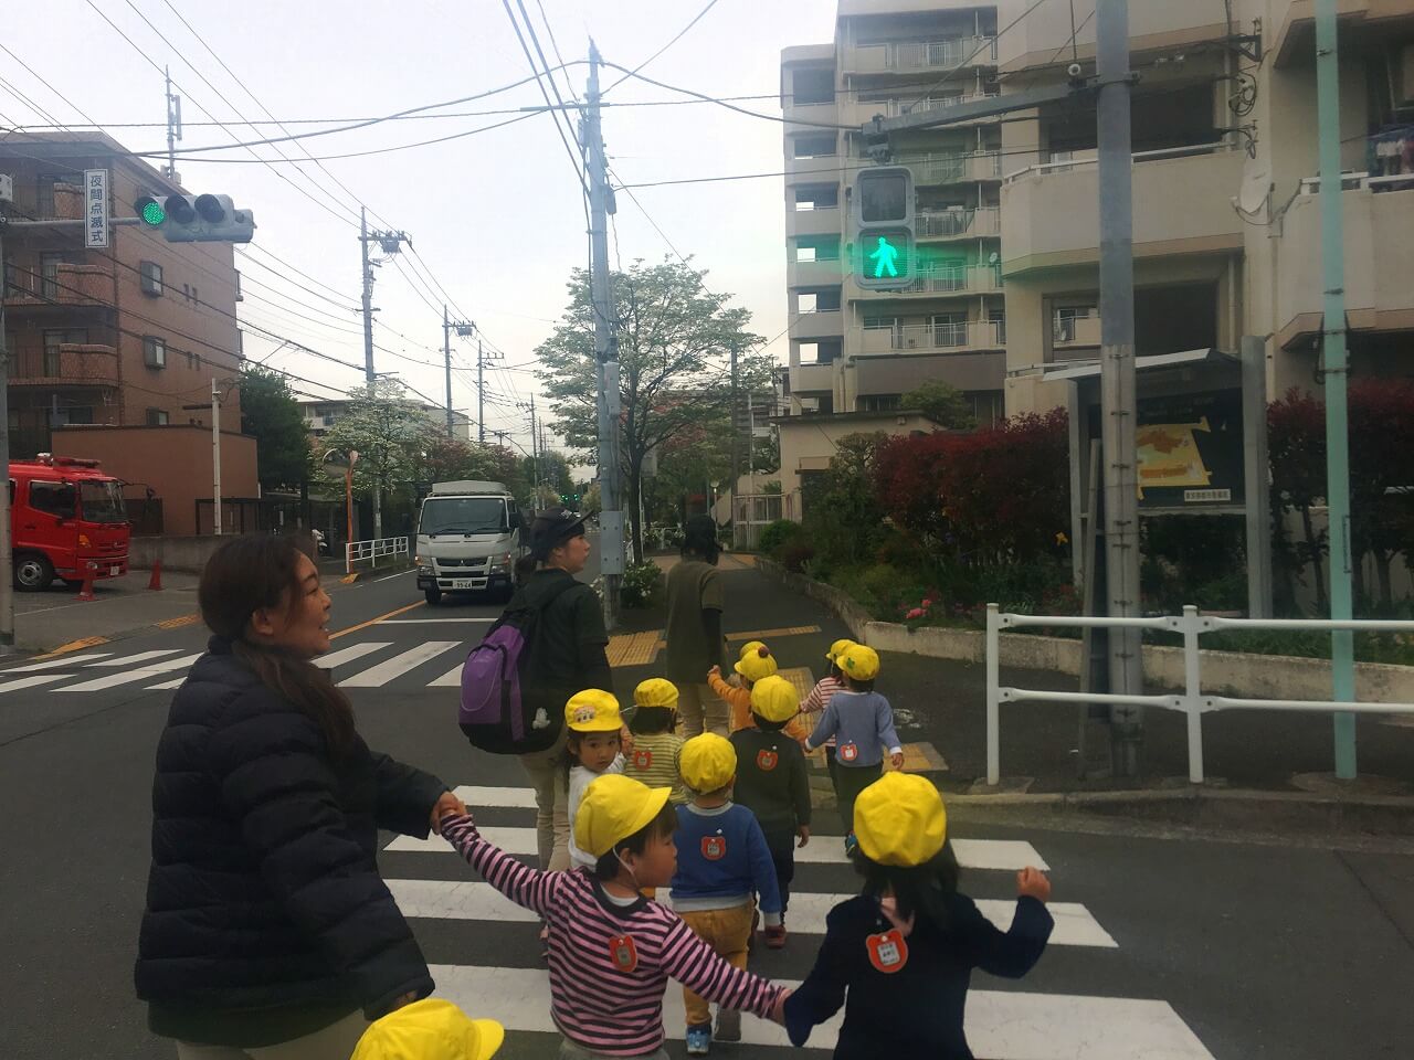
<svg viewBox="0 0 1414 1060">
<path fill-rule="evenodd" d="M 885 752 L 894 769 L 904 765 L 904 746 L 894 728 L 894 708 L 874 691 L 874 678 L 880 673 L 878 652 L 867 644 L 850 644 L 836 663 L 844 676 L 844 688 L 830 698 L 805 749 L 814 750 L 830 736 L 837 739 L 831 779 L 844 825 L 844 851 L 848 854 L 854 849 L 854 800 L 880 779 Z"/>
</svg>

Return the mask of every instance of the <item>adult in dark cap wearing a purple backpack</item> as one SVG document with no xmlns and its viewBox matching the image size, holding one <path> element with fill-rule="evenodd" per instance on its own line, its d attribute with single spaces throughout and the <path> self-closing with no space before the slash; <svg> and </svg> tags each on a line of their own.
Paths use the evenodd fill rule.
<svg viewBox="0 0 1414 1060">
<path fill-rule="evenodd" d="M 612 693 L 614 678 L 598 594 L 574 577 L 590 558 L 584 517 L 542 512 L 530 554 L 536 570 L 462 667 L 461 722 L 475 746 L 520 758 L 534 789 L 540 868 L 557 872 L 570 868 L 564 705 L 585 688 Z"/>
</svg>

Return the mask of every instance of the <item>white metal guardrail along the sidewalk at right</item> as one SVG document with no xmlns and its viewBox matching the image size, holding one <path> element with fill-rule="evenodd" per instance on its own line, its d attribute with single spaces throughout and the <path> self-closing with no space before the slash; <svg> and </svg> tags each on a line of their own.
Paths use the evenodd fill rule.
<svg viewBox="0 0 1414 1060">
<path fill-rule="evenodd" d="M 1035 626 L 1066 626 L 1070 629 L 1162 629 L 1184 636 L 1184 691 L 1178 695 L 1123 695 L 1117 693 L 1060 693 L 1036 688 L 1010 688 L 1001 684 L 1001 630 Z M 1155 618 L 1096 618 L 1060 615 L 1010 615 L 995 603 L 987 605 L 987 783 L 1001 780 L 1001 704 L 1004 702 L 1075 702 L 1109 704 L 1113 707 L 1162 707 L 1188 715 L 1188 779 L 1203 783 L 1203 714 L 1209 711 L 1302 711 L 1308 714 L 1414 714 L 1410 702 L 1333 702 L 1328 700 L 1243 700 L 1203 693 L 1202 654 L 1198 637 L 1220 629 L 1311 629 L 1311 630 L 1367 630 L 1414 633 L 1414 622 L 1379 619 L 1230 619 L 1199 615 L 1188 605 L 1182 615 Z"/>
</svg>

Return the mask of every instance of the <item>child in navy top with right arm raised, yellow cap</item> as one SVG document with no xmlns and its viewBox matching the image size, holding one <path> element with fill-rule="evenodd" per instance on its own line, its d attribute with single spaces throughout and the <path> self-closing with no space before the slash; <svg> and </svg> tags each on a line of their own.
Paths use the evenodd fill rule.
<svg viewBox="0 0 1414 1060">
<path fill-rule="evenodd" d="M 826 917 L 814 970 L 785 1005 L 803 1046 L 844 1005 L 834 1060 L 881 1056 L 971 1060 L 963 1008 L 973 968 L 1019 979 L 1041 958 L 1055 921 L 1051 882 L 1017 873 L 1017 912 L 1000 931 L 957 890 L 947 813 L 921 776 L 888 773 L 854 806 L 854 864 L 864 892 Z"/>
</svg>

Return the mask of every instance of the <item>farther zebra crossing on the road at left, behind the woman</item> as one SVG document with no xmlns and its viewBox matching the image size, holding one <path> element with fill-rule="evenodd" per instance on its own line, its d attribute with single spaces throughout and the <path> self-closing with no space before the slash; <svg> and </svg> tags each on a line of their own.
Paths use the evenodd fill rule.
<svg viewBox="0 0 1414 1060">
<path fill-rule="evenodd" d="M 329 652 L 315 664 L 334 671 L 337 684 L 344 688 L 455 688 L 461 685 L 461 664 L 477 643 L 479 636 L 417 643 L 361 640 Z M 0 670 L 0 697 L 41 690 L 79 694 L 113 688 L 164 691 L 187 680 L 187 670 L 199 657 L 199 652 L 175 647 L 132 654 L 79 652 Z"/>
</svg>

